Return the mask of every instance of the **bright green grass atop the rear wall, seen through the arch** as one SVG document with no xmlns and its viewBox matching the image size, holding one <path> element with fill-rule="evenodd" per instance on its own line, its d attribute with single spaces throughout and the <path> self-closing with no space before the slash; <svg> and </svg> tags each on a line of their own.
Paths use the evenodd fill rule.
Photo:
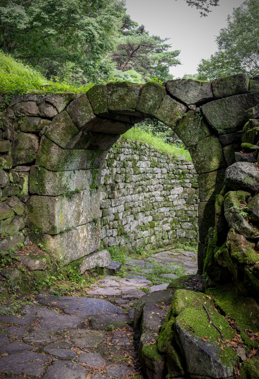
<svg viewBox="0 0 259 379">
<path fill-rule="evenodd" d="M 150 131 L 143 130 L 137 125 L 124 133 L 122 135 L 122 138 L 130 139 L 130 141 L 147 143 L 149 146 L 153 146 L 156 150 L 164 153 L 165 155 L 173 155 L 173 157 L 179 157 L 180 155 L 183 155 L 186 160 L 192 161 L 188 150 L 183 149 L 183 147 L 179 147 L 175 144 L 169 144 L 165 142 L 164 137 L 154 135 Z"/>
</svg>

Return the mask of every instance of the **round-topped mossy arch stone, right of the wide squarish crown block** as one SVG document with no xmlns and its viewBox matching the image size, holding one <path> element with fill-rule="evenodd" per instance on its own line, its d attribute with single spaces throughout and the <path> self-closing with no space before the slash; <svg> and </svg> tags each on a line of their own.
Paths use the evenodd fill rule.
<svg viewBox="0 0 259 379">
<path fill-rule="evenodd" d="M 164 88 L 158 83 L 148 82 L 142 86 L 136 110 L 155 116 L 165 95 Z"/>
</svg>

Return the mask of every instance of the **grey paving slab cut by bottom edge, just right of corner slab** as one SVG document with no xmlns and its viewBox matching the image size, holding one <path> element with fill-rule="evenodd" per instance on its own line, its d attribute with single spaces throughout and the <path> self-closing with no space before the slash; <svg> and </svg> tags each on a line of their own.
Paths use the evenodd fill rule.
<svg viewBox="0 0 259 379">
<path fill-rule="evenodd" d="M 87 375 L 86 368 L 76 365 L 72 362 L 62 362 L 56 360 L 53 365 L 51 365 L 46 373 L 44 374 L 44 379 L 85 379 Z"/>
</svg>

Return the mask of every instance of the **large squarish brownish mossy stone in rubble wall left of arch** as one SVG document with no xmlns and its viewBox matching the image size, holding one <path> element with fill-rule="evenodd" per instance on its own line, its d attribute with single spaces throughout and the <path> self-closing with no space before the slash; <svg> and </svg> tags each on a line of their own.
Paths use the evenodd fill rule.
<svg viewBox="0 0 259 379">
<path fill-rule="evenodd" d="M 12 147 L 14 164 L 33 162 L 39 150 L 39 137 L 30 133 L 17 133 Z"/>
</svg>

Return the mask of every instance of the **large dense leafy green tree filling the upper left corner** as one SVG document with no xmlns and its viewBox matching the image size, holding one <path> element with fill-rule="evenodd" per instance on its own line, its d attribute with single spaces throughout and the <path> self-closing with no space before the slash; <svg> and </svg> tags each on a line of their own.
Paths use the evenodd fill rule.
<svg viewBox="0 0 259 379">
<path fill-rule="evenodd" d="M 122 0 L 0 0 L 0 49 L 46 77 L 106 78 Z"/>
</svg>

